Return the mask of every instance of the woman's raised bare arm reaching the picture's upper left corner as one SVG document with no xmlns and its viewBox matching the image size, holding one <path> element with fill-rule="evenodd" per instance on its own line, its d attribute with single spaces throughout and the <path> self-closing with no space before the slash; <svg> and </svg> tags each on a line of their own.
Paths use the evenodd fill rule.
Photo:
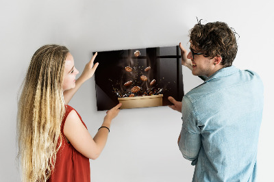
<svg viewBox="0 0 274 182">
<path fill-rule="evenodd" d="M 87 81 L 88 79 L 90 79 L 94 73 L 95 70 L 98 66 L 98 62 L 93 66 L 93 62 L 95 60 L 95 57 L 97 56 L 97 53 L 95 53 L 95 55 L 92 56 L 90 62 L 88 62 L 88 64 L 86 64 L 82 75 L 75 81 L 75 88 L 72 88 L 70 90 L 66 90 L 63 92 L 64 95 L 64 103 L 68 104 L 69 101 L 71 101 L 71 99 L 73 98 L 73 95 L 77 92 L 77 90 L 82 86 L 82 84 Z"/>
</svg>

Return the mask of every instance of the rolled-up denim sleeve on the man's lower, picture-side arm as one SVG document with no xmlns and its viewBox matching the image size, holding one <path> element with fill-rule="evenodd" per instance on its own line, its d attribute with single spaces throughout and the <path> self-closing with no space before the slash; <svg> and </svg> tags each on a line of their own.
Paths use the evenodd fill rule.
<svg viewBox="0 0 274 182">
<path fill-rule="evenodd" d="M 197 126 L 197 112 L 187 96 L 182 101 L 182 120 L 179 150 L 184 158 L 193 161 L 192 165 L 195 165 L 201 148 L 201 133 Z"/>
</svg>

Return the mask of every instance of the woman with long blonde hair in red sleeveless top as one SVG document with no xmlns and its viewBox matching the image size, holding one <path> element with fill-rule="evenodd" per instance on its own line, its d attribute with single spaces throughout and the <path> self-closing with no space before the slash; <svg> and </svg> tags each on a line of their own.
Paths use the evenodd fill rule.
<svg viewBox="0 0 274 182">
<path fill-rule="evenodd" d="M 81 116 L 67 105 L 79 87 L 95 73 L 97 53 L 82 75 L 66 47 L 38 49 L 29 64 L 18 102 L 18 157 L 23 181 L 90 181 L 89 159 L 96 159 L 108 139 L 110 123 L 119 114 L 107 112 L 94 138 Z"/>
</svg>

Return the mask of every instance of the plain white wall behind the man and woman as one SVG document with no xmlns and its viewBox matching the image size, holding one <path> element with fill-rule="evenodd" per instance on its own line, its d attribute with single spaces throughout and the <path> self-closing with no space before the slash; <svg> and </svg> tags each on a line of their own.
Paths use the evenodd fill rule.
<svg viewBox="0 0 274 182">
<path fill-rule="evenodd" d="M 20 181 L 16 167 L 16 101 L 29 61 L 43 44 L 64 44 L 78 70 L 92 51 L 188 47 L 197 23 L 224 21 L 240 34 L 234 65 L 255 70 L 264 81 L 264 115 L 258 147 L 260 181 L 273 176 L 273 3 L 262 1 L 1 1 L 1 181 Z M 185 91 L 201 81 L 183 69 Z M 248 92 L 248 90 L 247 90 Z M 71 105 L 95 135 L 105 112 L 97 112 L 95 81 L 77 92 Z M 233 107 L 233 106 L 232 106 Z M 112 122 L 108 144 L 90 160 L 92 181 L 191 181 L 194 167 L 177 147 L 182 120 L 169 107 L 123 109 Z M 273 179 L 272 179 L 273 180 Z"/>
</svg>

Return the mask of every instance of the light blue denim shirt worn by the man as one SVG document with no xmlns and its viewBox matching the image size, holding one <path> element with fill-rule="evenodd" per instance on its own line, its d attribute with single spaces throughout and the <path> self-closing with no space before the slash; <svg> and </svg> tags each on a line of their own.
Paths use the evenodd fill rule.
<svg viewBox="0 0 274 182">
<path fill-rule="evenodd" d="M 256 181 L 263 85 L 251 70 L 222 68 L 182 101 L 179 149 L 192 181 Z"/>
</svg>

